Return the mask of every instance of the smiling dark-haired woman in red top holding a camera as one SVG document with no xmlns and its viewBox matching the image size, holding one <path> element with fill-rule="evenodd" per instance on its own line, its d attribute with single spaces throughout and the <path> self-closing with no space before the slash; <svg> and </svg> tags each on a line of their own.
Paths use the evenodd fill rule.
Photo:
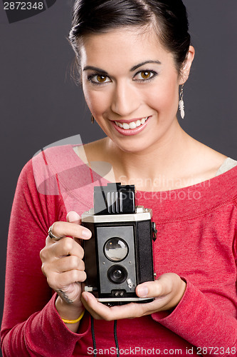
<svg viewBox="0 0 237 357">
<path fill-rule="evenodd" d="M 179 126 L 194 59 L 184 5 L 75 1 L 69 39 L 106 137 L 51 148 L 21 173 L 9 228 L 4 355 L 93 354 L 91 315 L 100 355 L 115 354 L 117 320 L 121 354 L 235 356 L 237 163 Z M 106 175 L 102 163 L 111 167 Z M 91 233 L 80 215 L 93 206 L 94 186 L 115 181 L 135 184 L 137 205 L 152 208 L 157 224 L 157 280 L 136 288 L 154 298 L 149 303 L 108 307 L 82 293 L 78 240 Z"/>
</svg>

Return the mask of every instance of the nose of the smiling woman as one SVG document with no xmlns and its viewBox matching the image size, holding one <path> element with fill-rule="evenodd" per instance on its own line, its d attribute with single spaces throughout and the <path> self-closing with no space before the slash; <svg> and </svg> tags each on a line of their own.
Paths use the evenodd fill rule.
<svg viewBox="0 0 237 357">
<path fill-rule="evenodd" d="M 135 86 L 121 81 L 115 84 L 112 93 L 111 110 L 120 116 L 129 116 L 135 112 L 140 105 L 141 99 Z"/>
</svg>

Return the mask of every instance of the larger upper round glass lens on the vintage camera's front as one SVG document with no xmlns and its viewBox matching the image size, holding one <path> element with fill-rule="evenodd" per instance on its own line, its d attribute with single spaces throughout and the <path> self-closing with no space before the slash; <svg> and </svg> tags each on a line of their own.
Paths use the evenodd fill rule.
<svg viewBox="0 0 237 357">
<path fill-rule="evenodd" d="M 113 237 L 105 242 L 104 252 L 110 261 L 122 261 L 127 256 L 128 246 L 122 238 Z"/>
</svg>

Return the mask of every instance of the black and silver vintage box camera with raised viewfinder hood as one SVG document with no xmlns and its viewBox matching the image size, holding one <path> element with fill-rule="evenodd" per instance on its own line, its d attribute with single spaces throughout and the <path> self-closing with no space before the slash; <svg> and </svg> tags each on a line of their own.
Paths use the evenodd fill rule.
<svg viewBox="0 0 237 357">
<path fill-rule="evenodd" d="M 152 210 L 135 207 L 135 186 L 95 187 L 94 208 L 81 218 L 92 231 L 92 237 L 83 240 L 85 291 L 111 305 L 152 301 L 135 293 L 139 283 L 154 280 L 152 239 L 157 232 Z"/>
</svg>

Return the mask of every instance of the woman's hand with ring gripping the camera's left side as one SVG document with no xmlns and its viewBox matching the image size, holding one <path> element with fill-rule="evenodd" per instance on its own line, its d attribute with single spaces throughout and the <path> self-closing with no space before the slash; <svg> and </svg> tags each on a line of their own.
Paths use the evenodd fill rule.
<svg viewBox="0 0 237 357">
<path fill-rule="evenodd" d="M 40 253 L 43 274 L 48 285 L 58 293 L 56 308 L 67 319 L 77 318 L 84 309 L 80 297 L 86 274 L 80 239 L 89 239 L 91 232 L 80 223 L 80 216 L 74 211 L 68 213 L 67 222 L 53 223 L 53 235 L 62 238 L 54 241 L 48 236 Z"/>
</svg>

